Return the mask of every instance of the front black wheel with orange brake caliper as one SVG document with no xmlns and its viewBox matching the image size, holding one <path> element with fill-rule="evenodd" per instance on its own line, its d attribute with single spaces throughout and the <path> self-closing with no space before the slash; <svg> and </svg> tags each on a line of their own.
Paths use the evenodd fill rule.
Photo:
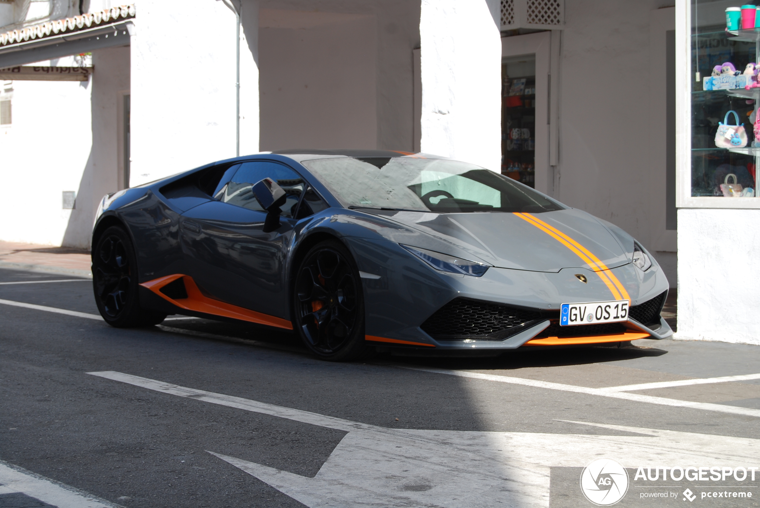
<svg viewBox="0 0 760 508">
<path fill-rule="evenodd" d="M 359 270 L 340 241 L 322 241 L 303 258 L 293 310 L 297 333 L 319 358 L 355 360 L 368 351 Z"/>
</svg>

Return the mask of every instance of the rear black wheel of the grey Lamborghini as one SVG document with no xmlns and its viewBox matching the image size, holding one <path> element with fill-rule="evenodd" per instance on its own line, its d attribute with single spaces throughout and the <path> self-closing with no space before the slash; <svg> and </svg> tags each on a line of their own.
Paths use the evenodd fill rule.
<svg viewBox="0 0 760 508">
<path fill-rule="evenodd" d="M 166 314 L 140 308 L 135 249 L 127 232 L 112 226 L 93 248 L 93 291 L 98 311 L 112 327 L 147 327 Z"/>
</svg>

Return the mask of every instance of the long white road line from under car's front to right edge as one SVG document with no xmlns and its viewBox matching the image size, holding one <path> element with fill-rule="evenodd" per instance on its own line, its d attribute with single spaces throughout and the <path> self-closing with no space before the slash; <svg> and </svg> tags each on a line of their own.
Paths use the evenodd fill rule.
<svg viewBox="0 0 760 508">
<path fill-rule="evenodd" d="M 533 379 L 524 379 L 522 377 L 496 376 L 494 374 L 480 374 L 480 372 L 468 371 L 451 371 L 442 368 L 411 367 L 409 365 L 396 365 L 399 368 L 406 368 L 412 371 L 431 372 L 433 374 L 448 374 L 449 376 L 470 377 L 486 381 L 496 381 L 498 383 L 521 384 L 526 387 L 546 388 L 547 390 L 562 390 L 563 392 L 585 393 L 587 395 L 597 395 L 611 397 L 613 399 L 625 399 L 633 402 L 648 402 L 649 404 L 671 405 L 681 408 L 703 409 L 705 411 L 715 411 L 730 413 L 732 415 L 754 416 L 760 418 L 760 409 L 742 408 L 736 405 L 711 404 L 710 402 L 692 402 L 689 400 L 666 399 L 665 397 L 655 397 L 651 395 L 641 395 L 640 393 L 625 393 L 607 391 L 603 388 L 576 387 L 572 384 L 551 383 L 549 381 L 538 381 Z"/>
</svg>

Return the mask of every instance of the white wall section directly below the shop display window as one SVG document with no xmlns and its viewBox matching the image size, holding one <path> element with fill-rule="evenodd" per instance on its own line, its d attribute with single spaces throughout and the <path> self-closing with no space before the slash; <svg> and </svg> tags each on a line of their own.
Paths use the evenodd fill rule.
<svg viewBox="0 0 760 508">
<path fill-rule="evenodd" d="M 760 210 L 678 210 L 677 339 L 760 345 Z"/>
</svg>

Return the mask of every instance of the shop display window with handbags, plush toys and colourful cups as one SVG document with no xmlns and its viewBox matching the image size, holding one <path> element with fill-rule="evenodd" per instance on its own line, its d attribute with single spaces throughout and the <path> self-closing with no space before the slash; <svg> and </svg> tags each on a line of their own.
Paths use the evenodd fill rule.
<svg viewBox="0 0 760 508">
<path fill-rule="evenodd" d="M 692 0 L 691 16 L 691 195 L 755 197 L 760 8 Z"/>
</svg>

